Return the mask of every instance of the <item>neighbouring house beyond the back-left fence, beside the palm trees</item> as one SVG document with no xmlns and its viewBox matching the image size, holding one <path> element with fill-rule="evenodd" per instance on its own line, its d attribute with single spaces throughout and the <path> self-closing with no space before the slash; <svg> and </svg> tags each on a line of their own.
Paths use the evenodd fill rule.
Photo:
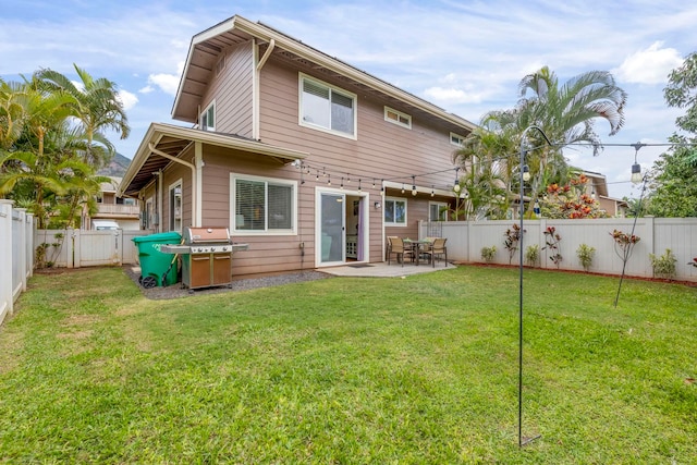
<svg viewBox="0 0 697 465">
<path fill-rule="evenodd" d="M 82 225 L 85 230 L 105 230 L 119 228 L 138 230 L 140 209 L 133 198 L 117 196 L 121 178 L 110 176 L 111 182 L 101 183 L 101 194 L 97 197 L 98 210 L 91 217 L 83 211 Z"/>
</svg>

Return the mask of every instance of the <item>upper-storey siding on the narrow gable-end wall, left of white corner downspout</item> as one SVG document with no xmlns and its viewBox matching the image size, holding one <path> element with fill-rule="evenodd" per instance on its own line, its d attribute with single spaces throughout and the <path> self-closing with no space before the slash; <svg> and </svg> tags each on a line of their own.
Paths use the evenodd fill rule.
<svg viewBox="0 0 697 465">
<path fill-rule="evenodd" d="M 252 42 L 225 51 L 225 68 L 213 76 L 200 110 L 216 100 L 216 131 L 252 137 L 253 77 Z"/>
</svg>

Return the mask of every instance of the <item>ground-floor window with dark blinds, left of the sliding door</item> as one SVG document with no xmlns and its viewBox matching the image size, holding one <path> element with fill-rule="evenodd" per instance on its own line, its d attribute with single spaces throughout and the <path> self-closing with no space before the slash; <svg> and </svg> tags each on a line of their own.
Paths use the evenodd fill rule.
<svg viewBox="0 0 697 465">
<path fill-rule="evenodd" d="M 232 230 L 295 233 L 296 183 L 255 176 L 232 178 Z"/>
</svg>

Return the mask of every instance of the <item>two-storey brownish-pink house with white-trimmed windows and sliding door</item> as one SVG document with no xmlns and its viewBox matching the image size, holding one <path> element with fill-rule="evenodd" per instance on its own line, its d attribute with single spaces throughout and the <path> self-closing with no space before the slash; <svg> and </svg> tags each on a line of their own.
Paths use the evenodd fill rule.
<svg viewBox="0 0 697 465">
<path fill-rule="evenodd" d="M 475 125 L 267 25 L 193 37 L 172 108 L 118 195 L 147 232 L 228 228 L 233 274 L 384 260 L 386 237 L 454 201 L 452 155 Z"/>
</svg>

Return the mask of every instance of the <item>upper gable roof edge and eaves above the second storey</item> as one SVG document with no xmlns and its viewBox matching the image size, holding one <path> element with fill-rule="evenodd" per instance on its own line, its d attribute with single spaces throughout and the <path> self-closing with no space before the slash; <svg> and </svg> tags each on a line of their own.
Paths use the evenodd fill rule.
<svg viewBox="0 0 697 465">
<path fill-rule="evenodd" d="M 310 64 L 320 74 L 350 81 L 355 86 L 358 86 L 362 93 L 376 94 L 381 98 L 399 102 L 409 108 L 409 111 L 421 114 L 425 118 L 447 121 L 456 126 L 466 127 L 469 131 L 476 127 L 476 124 L 464 118 L 447 112 L 433 103 L 351 66 L 337 58 L 329 57 L 267 25 L 253 23 L 239 15 L 225 20 L 192 38 L 174 106 L 172 107 L 172 118 L 174 120 L 191 123 L 198 121 L 198 106 L 201 103 L 204 93 L 220 54 L 227 47 L 252 39 L 256 39 L 259 44 L 266 44 L 267 47 L 272 44 L 272 52 L 274 54 L 292 61 Z"/>
</svg>

